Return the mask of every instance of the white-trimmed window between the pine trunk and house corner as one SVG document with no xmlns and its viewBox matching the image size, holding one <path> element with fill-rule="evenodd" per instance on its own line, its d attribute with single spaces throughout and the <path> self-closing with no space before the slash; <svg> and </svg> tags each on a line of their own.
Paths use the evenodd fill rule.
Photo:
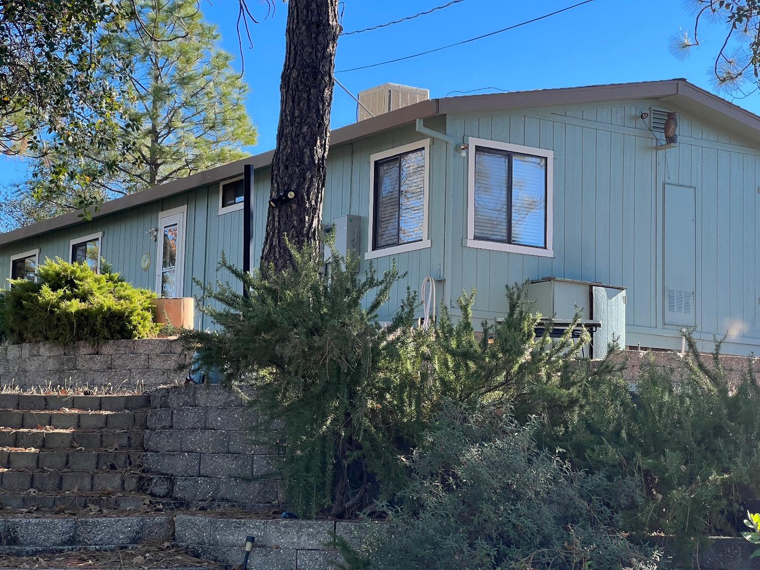
<svg viewBox="0 0 760 570">
<path fill-rule="evenodd" d="M 430 246 L 427 239 L 428 154 L 420 141 L 370 157 L 370 251 L 365 258 Z"/>
</svg>

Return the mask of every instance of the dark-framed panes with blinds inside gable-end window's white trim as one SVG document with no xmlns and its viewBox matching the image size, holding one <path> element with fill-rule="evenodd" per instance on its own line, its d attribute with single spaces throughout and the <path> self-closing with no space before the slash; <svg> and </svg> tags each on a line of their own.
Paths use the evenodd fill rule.
<svg viewBox="0 0 760 570">
<path fill-rule="evenodd" d="M 546 248 L 546 157 L 475 148 L 474 239 Z"/>
</svg>

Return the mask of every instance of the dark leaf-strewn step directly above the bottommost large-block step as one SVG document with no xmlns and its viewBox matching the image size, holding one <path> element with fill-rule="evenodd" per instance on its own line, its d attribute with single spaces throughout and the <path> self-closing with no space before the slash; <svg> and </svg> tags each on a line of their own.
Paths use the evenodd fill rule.
<svg viewBox="0 0 760 570">
<path fill-rule="evenodd" d="M 155 499 L 139 492 L 122 492 L 118 495 L 99 495 L 90 492 L 71 491 L 13 492 L 0 491 L 0 508 L 8 510 L 26 509 L 32 511 L 59 512 L 90 508 L 95 506 L 109 511 L 143 508 Z M 0 512 L 0 516 L 2 516 Z"/>
</svg>

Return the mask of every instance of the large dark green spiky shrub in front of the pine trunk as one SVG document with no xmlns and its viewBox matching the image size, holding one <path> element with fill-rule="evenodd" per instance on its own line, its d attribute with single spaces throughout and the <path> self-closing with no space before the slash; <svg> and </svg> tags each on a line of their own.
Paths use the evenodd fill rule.
<svg viewBox="0 0 760 570">
<path fill-rule="evenodd" d="M 222 258 L 248 296 L 227 283 L 201 285 L 201 311 L 220 329 L 182 338 L 228 385 L 255 388 L 261 421 L 252 431 L 278 451 L 287 507 L 351 517 L 405 481 L 397 455 L 409 451 L 431 405 L 419 362 L 426 335 L 412 326 L 412 293 L 390 325 L 376 321 L 396 268 L 359 277 L 356 259 L 333 252 L 326 279 L 314 252 L 292 255 L 295 268 L 268 277 Z"/>
</svg>

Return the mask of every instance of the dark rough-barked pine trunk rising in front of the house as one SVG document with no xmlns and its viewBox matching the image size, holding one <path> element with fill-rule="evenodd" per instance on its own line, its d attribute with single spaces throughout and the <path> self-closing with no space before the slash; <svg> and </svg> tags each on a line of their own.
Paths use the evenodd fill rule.
<svg viewBox="0 0 760 570">
<path fill-rule="evenodd" d="M 288 2 L 271 197 L 295 198 L 269 207 L 262 268 L 290 267 L 286 236 L 298 249 L 319 239 L 338 28 L 337 0 Z"/>
</svg>

